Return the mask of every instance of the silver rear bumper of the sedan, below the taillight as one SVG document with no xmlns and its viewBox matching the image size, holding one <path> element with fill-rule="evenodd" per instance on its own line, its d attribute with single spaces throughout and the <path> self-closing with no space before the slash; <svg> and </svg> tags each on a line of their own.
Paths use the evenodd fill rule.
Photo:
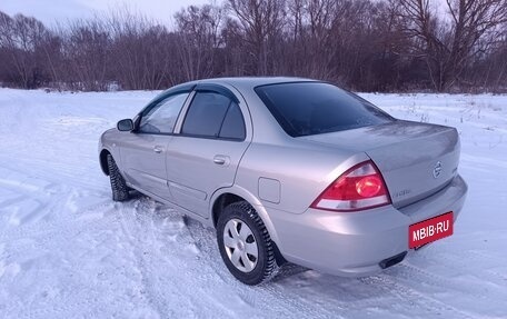
<svg viewBox="0 0 507 319">
<path fill-rule="evenodd" d="M 448 211 L 454 211 L 456 221 L 466 193 L 467 185 L 457 176 L 445 189 L 401 209 L 392 206 L 362 212 L 308 209 L 301 215 L 269 209 L 268 213 L 277 232 L 278 248 L 288 261 L 327 273 L 360 277 L 386 268 L 386 260 L 405 257 L 411 223 Z"/>
</svg>

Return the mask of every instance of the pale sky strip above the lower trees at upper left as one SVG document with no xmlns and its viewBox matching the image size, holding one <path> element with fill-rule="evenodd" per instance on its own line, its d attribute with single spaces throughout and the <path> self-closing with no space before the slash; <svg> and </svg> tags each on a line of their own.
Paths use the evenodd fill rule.
<svg viewBox="0 0 507 319">
<path fill-rule="evenodd" d="M 49 27 L 54 21 L 87 18 L 97 11 L 127 4 L 131 10 L 170 24 L 172 16 L 181 8 L 208 2 L 209 0 L 1 0 L 0 11 L 9 16 L 22 13 L 36 17 Z"/>
</svg>

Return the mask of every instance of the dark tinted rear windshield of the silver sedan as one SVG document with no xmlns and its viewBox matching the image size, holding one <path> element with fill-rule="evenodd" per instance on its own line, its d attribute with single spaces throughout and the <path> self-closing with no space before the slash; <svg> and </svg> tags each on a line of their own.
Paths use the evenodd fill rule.
<svg viewBox="0 0 507 319">
<path fill-rule="evenodd" d="M 291 137 L 377 126 L 394 120 L 358 96 L 325 82 L 277 83 L 255 90 Z"/>
</svg>

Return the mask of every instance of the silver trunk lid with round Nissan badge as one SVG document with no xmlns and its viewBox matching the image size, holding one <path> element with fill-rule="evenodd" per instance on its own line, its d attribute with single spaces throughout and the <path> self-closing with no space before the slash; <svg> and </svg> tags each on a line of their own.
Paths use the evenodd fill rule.
<svg viewBox="0 0 507 319">
<path fill-rule="evenodd" d="M 396 120 L 300 139 L 367 153 L 397 208 L 439 191 L 457 175 L 459 137 L 449 127 Z"/>
</svg>

